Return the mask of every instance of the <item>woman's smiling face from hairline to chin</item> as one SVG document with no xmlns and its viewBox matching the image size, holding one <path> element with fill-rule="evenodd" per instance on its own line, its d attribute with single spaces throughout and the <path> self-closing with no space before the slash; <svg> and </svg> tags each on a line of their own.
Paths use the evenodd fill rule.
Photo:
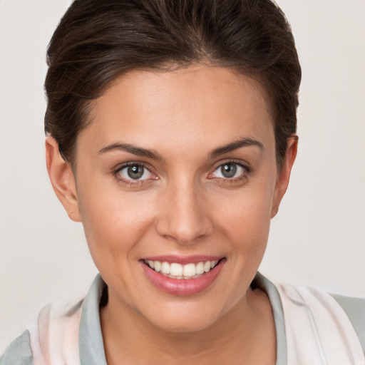
<svg viewBox="0 0 365 365">
<path fill-rule="evenodd" d="M 268 97 L 251 78 L 190 66 L 116 80 L 78 136 L 73 213 L 109 304 L 197 331 L 245 302 L 283 170 Z"/>
</svg>

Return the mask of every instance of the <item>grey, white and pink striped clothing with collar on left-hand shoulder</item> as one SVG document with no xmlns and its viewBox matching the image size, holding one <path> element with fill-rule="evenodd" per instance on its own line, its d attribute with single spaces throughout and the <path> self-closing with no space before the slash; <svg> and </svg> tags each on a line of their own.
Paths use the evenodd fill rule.
<svg viewBox="0 0 365 365">
<path fill-rule="evenodd" d="M 98 274 L 84 299 L 57 300 L 43 307 L 0 356 L 0 365 L 106 365 L 98 311 L 105 288 Z M 99 357 L 93 361 L 96 353 Z"/>
</svg>

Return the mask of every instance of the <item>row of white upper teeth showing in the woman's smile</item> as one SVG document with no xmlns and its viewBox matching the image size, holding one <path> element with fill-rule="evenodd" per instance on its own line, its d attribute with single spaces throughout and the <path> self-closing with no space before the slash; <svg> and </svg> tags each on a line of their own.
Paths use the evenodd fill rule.
<svg viewBox="0 0 365 365">
<path fill-rule="evenodd" d="M 222 259 L 224 259 L 224 257 Z M 178 264 L 177 262 L 169 263 L 147 259 L 143 260 L 143 262 L 150 267 L 150 269 L 162 274 L 164 277 L 170 277 L 171 279 L 196 279 L 214 269 L 222 259 L 202 261 L 197 262 L 196 264 Z"/>
</svg>

